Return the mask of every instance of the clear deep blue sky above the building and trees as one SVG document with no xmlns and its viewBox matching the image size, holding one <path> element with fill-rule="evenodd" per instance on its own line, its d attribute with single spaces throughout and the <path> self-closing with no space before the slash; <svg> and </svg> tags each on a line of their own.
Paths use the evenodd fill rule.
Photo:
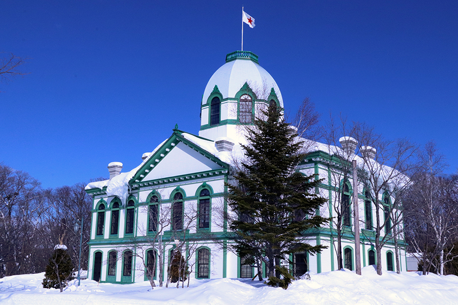
<svg viewBox="0 0 458 305">
<path fill-rule="evenodd" d="M 458 3 L 453 1 L 0 0 L 0 52 L 28 57 L 0 83 L 0 162 L 43 187 L 141 162 L 175 124 L 197 134 L 207 81 L 241 47 L 294 114 L 310 97 L 388 139 L 435 140 L 456 172 Z"/>
</svg>

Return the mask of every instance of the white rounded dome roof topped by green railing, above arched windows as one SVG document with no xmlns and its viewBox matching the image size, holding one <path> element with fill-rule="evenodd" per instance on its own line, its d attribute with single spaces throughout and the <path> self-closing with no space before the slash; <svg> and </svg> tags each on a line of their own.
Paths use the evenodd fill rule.
<svg viewBox="0 0 458 305">
<path fill-rule="evenodd" d="M 202 104 L 207 100 L 215 85 L 223 99 L 235 98 L 240 88 L 248 83 L 258 99 L 267 99 L 271 88 L 274 88 L 280 107 L 283 108 L 283 98 L 273 77 L 257 63 L 257 55 L 248 51 L 236 51 L 226 55 L 226 63 L 221 66 L 205 87 Z"/>
</svg>

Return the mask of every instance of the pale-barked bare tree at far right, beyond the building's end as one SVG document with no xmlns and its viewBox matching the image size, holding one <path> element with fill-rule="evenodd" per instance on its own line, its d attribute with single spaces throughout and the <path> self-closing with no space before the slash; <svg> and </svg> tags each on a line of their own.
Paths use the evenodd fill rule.
<svg viewBox="0 0 458 305">
<path fill-rule="evenodd" d="M 443 174 L 447 167 L 434 142 L 428 142 L 419 154 L 420 169 L 404 201 L 412 251 L 420 254 L 423 274 L 434 266 L 444 275 L 444 265 L 452 260 L 453 244 L 458 240 L 458 197 L 455 177 Z M 436 258 L 438 258 L 436 260 Z"/>
</svg>

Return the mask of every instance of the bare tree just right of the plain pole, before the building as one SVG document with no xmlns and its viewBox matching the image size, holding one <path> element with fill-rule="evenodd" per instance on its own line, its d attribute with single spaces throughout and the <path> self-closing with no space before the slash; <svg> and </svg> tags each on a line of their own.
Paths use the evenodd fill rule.
<svg viewBox="0 0 458 305">
<path fill-rule="evenodd" d="M 371 240 L 377 252 L 377 273 L 382 274 L 382 248 L 392 239 L 399 271 L 397 239 L 403 219 L 400 198 L 411 185 L 409 176 L 417 170 L 414 157 L 418 147 L 408 139 L 385 140 L 365 124 L 356 126 L 355 135 L 362 152 L 358 176 L 369 189 L 376 212 L 375 238 Z"/>
</svg>

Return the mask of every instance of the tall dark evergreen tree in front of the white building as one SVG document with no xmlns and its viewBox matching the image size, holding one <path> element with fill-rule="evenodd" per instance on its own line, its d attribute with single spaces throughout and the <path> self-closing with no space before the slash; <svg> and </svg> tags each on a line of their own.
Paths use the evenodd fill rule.
<svg viewBox="0 0 458 305">
<path fill-rule="evenodd" d="M 242 145 L 246 160 L 234 174 L 236 183 L 227 184 L 228 204 L 238 214 L 229 228 L 236 233 L 239 256 L 251 262 L 262 259 L 278 283 L 284 273 L 281 260 L 294 252 L 316 254 L 326 248 L 311 246 L 302 236 L 329 219 L 316 213 L 326 202 L 314 194 L 319 180 L 296 171 L 304 159 L 300 138 L 274 104 L 264 115 L 265 120 L 256 118 L 254 128 L 247 128 L 248 145 Z"/>
</svg>

